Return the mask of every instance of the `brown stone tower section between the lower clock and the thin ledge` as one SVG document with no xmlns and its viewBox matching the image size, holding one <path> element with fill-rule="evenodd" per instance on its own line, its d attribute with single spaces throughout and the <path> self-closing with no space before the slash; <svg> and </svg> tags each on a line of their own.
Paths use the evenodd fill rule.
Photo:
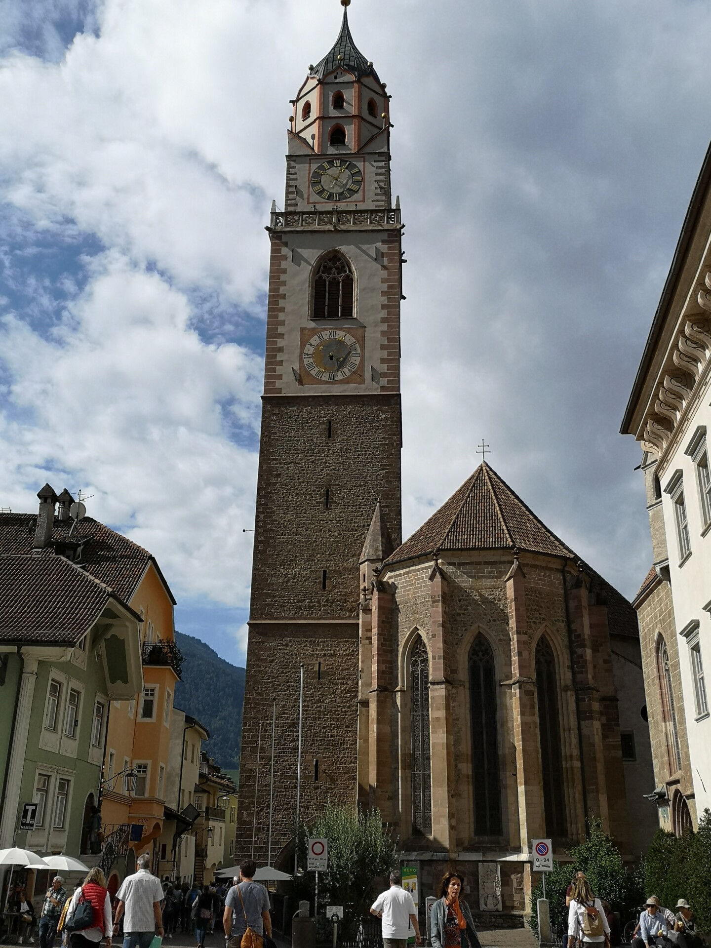
<svg viewBox="0 0 711 948">
<path fill-rule="evenodd" d="M 396 394 L 264 398 L 250 619 L 357 618 L 378 498 L 400 542 L 400 439 Z"/>
</svg>

